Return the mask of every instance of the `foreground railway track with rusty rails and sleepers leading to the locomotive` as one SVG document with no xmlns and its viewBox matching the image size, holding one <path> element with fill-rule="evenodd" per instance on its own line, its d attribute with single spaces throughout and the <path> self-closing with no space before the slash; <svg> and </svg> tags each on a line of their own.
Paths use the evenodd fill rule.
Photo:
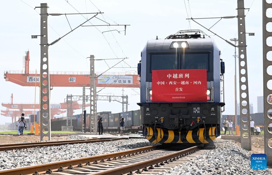
<svg viewBox="0 0 272 175">
<path fill-rule="evenodd" d="M 0 174 L 136 174 L 162 172 L 177 164 L 189 161 L 189 158 L 205 152 L 199 146 L 181 151 L 167 150 L 162 145 L 148 146 L 128 151 L 91 156 L 86 158 L 59 161 L 48 164 L 1 170 Z M 138 172 L 136 172 L 138 171 Z"/>
</svg>

